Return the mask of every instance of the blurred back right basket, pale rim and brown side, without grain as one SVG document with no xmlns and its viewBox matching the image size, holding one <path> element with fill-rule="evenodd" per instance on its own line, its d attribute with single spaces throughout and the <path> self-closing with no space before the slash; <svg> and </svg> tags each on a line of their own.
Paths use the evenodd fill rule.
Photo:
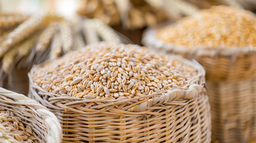
<svg viewBox="0 0 256 143">
<path fill-rule="evenodd" d="M 206 70 L 212 111 L 212 135 L 219 142 L 256 139 L 256 47 L 185 47 L 143 34 L 143 43 L 157 51 L 195 58 Z M 256 140 L 255 140 L 256 141 Z"/>
</svg>

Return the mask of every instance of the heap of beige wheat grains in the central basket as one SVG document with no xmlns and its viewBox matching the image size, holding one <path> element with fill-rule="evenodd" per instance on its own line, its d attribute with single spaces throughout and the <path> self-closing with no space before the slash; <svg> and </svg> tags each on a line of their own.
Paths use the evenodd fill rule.
<svg viewBox="0 0 256 143">
<path fill-rule="evenodd" d="M 132 98 L 184 87 L 197 72 L 139 46 L 101 43 L 45 63 L 32 79 L 47 91 L 50 83 L 64 89 L 59 95 Z"/>
</svg>

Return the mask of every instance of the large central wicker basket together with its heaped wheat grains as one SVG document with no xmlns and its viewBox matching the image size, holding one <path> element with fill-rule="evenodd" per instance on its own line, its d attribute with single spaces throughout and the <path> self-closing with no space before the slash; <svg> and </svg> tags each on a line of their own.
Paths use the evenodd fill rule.
<svg viewBox="0 0 256 143">
<path fill-rule="evenodd" d="M 34 66 L 29 96 L 63 142 L 210 142 L 205 71 L 137 45 L 99 43 Z"/>
</svg>

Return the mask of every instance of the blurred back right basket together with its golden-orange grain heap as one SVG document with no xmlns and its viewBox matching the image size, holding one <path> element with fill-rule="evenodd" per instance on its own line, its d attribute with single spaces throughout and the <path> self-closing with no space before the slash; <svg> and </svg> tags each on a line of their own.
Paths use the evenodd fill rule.
<svg viewBox="0 0 256 143">
<path fill-rule="evenodd" d="M 255 23 L 249 11 L 218 6 L 144 33 L 144 45 L 205 68 L 212 135 L 220 142 L 256 141 Z"/>
</svg>

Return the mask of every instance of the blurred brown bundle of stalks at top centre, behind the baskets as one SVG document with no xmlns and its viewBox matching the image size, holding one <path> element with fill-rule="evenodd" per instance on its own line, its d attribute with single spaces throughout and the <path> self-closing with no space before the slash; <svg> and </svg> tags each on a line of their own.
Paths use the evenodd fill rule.
<svg viewBox="0 0 256 143">
<path fill-rule="evenodd" d="M 117 25 L 122 22 L 123 26 L 128 29 L 140 28 L 148 24 L 153 25 L 166 18 L 164 13 L 159 14 L 159 11 L 162 10 L 155 5 L 161 0 L 145 1 L 81 1 L 78 13 L 89 18 L 98 18 L 109 25 Z M 144 15 L 147 15 L 147 20 L 144 19 Z"/>
</svg>

